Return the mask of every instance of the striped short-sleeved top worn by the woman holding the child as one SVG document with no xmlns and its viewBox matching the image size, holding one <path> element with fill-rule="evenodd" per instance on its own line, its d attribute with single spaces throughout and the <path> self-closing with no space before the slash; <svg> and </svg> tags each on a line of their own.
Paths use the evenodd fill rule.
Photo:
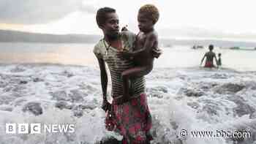
<svg viewBox="0 0 256 144">
<path fill-rule="evenodd" d="M 129 31 L 121 32 L 121 44 L 126 50 L 132 50 L 133 42 L 135 42 L 135 34 Z M 119 98 L 123 95 L 123 80 L 121 73 L 127 69 L 135 67 L 134 61 L 121 56 L 121 51 L 108 45 L 105 39 L 100 39 L 97 45 L 94 46 L 94 53 L 97 57 L 102 58 L 108 64 L 110 70 L 113 98 Z M 138 77 L 135 80 L 130 80 L 132 87 L 132 97 L 140 96 L 145 93 L 145 78 Z"/>
</svg>

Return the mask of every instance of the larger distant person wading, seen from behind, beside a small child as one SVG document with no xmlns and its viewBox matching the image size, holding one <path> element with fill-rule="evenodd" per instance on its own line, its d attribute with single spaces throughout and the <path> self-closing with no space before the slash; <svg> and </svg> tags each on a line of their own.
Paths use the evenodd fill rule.
<svg viewBox="0 0 256 144">
<path fill-rule="evenodd" d="M 214 66 L 214 58 L 215 58 L 217 67 L 219 67 L 216 54 L 212 50 L 214 50 L 214 45 L 209 45 L 209 51 L 203 56 L 202 61 L 201 61 L 201 65 L 202 65 L 204 58 L 206 58 L 206 64 L 204 67 L 208 67 L 208 68 L 215 67 Z"/>
</svg>

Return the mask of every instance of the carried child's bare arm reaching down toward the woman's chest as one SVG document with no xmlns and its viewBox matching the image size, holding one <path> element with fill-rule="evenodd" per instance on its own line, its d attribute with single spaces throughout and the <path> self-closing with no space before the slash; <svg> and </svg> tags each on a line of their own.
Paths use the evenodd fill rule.
<svg viewBox="0 0 256 144">
<path fill-rule="evenodd" d="M 143 48 L 141 48 L 140 50 L 130 52 L 129 56 L 138 56 L 140 55 L 140 53 L 150 51 L 151 48 L 154 46 L 154 42 L 157 42 L 157 35 L 152 32 L 151 34 L 148 34 L 148 36 L 146 37 L 146 41 L 143 45 Z"/>
</svg>

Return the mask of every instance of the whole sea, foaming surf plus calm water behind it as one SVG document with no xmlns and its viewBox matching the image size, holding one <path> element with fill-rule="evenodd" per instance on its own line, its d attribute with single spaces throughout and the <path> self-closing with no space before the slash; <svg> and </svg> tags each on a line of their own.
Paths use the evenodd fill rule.
<svg viewBox="0 0 256 144">
<path fill-rule="evenodd" d="M 7 59 L 1 59 L 1 144 L 93 144 L 109 137 L 121 140 L 120 135 L 105 130 L 105 112 L 100 108 L 99 67 L 91 53 L 92 48 L 66 46 L 59 46 L 64 49 L 52 52 L 45 52 L 43 48 L 40 50 L 44 53 L 36 50 L 30 55 L 34 59 L 37 55 L 42 58 L 30 64 L 29 58 L 33 58 L 23 55 L 24 51 L 20 52 L 18 60 L 12 58 L 8 63 Z M 44 47 L 54 50 L 54 46 Z M 5 53 L 13 51 L 8 50 Z M 155 61 L 153 71 L 146 75 L 146 94 L 153 120 L 152 143 L 256 143 L 256 67 L 247 63 L 253 60 L 255 52 L 241 52 L 246 53 L 244 56 L 236 51 L 217 48 L 217 53 L 224 53 L 224 66 L 221 69 L 204 69 L 199 64 L 206 50 L 192 50 L 184 46 L 164 48 L 162 58 Z M 52 56 L 56 58 L 52 59 L 45 53 L 57 53 L 59 57 Z M 23 56 L 28 61 L 22 62 Z M 236 59 L 239 56 L 244 58 Z M 62 61 L 64 64 L 54 64 L 61 63 L 59 61 L 63 59 L 66 60 Z M 109 101 L 110 87 L 109 81 Z M 6 134 L 6 124 L 14 123 L 74 124 L 75 132 Z M 181 134 L 184 131 L 187 132 L 186 137 Z M 217 137 L 216 134 L 215 137 L 195 137 L 192 134 L 199 131 L 250 132 L 251 135 L 230 138 Z"/>
</svg>

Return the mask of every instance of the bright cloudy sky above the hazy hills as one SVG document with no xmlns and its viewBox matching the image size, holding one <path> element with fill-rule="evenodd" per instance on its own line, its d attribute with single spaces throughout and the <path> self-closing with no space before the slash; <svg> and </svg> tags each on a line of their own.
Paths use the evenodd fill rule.
<svg viewBox="0 0 256 144">
<path fill-rule="evenodd" d="M 154 4 L 162 38 L 256 41 L 255 0 L 1 0 L 0 29 L 47 34 L 102 34 L 95 15 L 116 9 L 120 26 L 138 32 L 137 14 Z"/>
</svg>

